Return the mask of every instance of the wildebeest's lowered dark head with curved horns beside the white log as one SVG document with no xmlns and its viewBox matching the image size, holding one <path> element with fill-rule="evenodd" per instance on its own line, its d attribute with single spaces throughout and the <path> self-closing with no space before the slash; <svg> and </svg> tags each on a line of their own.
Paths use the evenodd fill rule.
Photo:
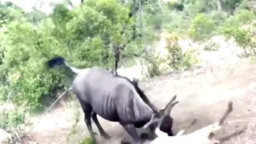
<svg viewBox="0 0 256 144">
<path fill-rule="evenodd" d="M 167 103 L 165 108 L 158 110 L 153 115 L 150 122 L 147 123 L 144 127 L 148 127 L 148 126 L 156 127 L 157 124 L 161 121 L 160 130 L 167 133 L 169 136 L 173 136 L 173 132 L 172 132 L 173 119 L 170 113 L 172 108 L 178 103 L 178 101 L 174 101 L 176 98 L 177 98 L 177 95 L 174 95 L 173 98 L 170 100 L 170 102 Z"/>
</svg>

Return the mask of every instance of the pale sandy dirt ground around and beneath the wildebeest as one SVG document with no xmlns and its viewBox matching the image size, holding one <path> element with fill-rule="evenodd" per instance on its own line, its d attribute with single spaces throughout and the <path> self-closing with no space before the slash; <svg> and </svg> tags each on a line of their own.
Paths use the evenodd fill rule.
<svg viewBox="0 0 256 144">
<path fill-rule="evenodd" d="M 186 127 L 194 118 L 197 118 L 197 123 L 188 132 L 217 122 L 225 112 L 228 101 L 233 101 L 234 111 L 227 118 L 219 134 L 226 135 L 246 126 L 247 130 L 243 134 L 225 143 L 256 143 L 256 65 L 242 60 L 235 70 L 218 77 L 224 70 L 220 68 L 213 73 L 203 71 L 199 74 L 196 74 L 196 70 L 190 70 L 185 73 L 147 79 L 140 85 L 149 99 L 159 108 L 163 108 L 172 96 L 177 94 L 179 103 L 171 113 L 174 118 L 175 133 Z M 76 108 L 66 106 L 55 109 L 44 116 L 29 134 L 30 142 L 34 141 L 38 144 L 78 143 L 88 137 L 79 103 L 75 101 L 73 105 Z M 79 111 L 80 119 L 75 128 L 76 132 L 68 137 L 77 111 Z M 100 117 L 99 121 L 103 129 L 112 137 L 106 140 L 98 134 L 97 139 L 100 143 L 119 144 L 121 139 L 127 136 L 118 123 L 109 122 Z M 99 133 L 94 124 L 93 130 Z"/>
</svg>

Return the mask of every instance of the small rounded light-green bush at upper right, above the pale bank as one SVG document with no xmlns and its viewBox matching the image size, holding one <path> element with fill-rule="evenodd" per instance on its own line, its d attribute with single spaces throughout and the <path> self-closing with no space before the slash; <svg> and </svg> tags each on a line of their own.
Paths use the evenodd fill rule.
<svg viewBox="0 0 256 144">
<path fill-rule="evenodd" d="M 209 37 L 214 29 L 214 21 L 207 17 L 206 14 L 200 13 L 192 20 L 188 34 L 191 38 L 198 41 Z"/>
</svg>

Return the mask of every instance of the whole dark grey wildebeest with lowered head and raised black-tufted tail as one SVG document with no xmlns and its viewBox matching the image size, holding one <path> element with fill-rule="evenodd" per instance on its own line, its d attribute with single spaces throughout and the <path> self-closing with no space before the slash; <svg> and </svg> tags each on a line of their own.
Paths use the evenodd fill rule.
<svg viewBox="0 0 256 144">
<path fill-rule="evenodd" d="M 139 89 L 136 81 L 131 82 L 100 67 L 77 69 L 62 57 L 54 57 L 47 61 L 47 66 L 50 68 L 60 65 L 65 65 L 76 73 L 72 89 L 82 106 L 85 123 L 94 143 L 97 141 L 92 131 L 91 118 L 100 134 L 106 139 L 110 138 L 100 125 L 97 114 L 108 121 L 119 122 L 133 138 L 132 143 L 142 142 L 135 127 L 146 124 L 150 127 L 150 135 L 153 138 L 153 132 L 160 117 L 164 117 L 160 130 L 173 135 L 173 119 L 170 111 L 176 95 L 164 109 L 158 110 L 150 105 L 148 99 L 145 99 L 147 97 Z"/>
</svg>

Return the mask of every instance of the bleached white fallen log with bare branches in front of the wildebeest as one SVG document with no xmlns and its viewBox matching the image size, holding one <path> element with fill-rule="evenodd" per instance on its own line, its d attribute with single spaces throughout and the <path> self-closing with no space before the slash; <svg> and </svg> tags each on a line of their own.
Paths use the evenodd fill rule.
<svg viewBox="0 0 256 144">
<path fill-rule="evenodd" d="M 161 121 L 159 121 L 158 126 L 156 128 L 156 134 L 157 138 L 154 139 L 153 141 L 150 141 L 150 144 L 169 144 L 169 143 L 179 143 L 179 144 L 220 144 L 224 141 L 229 140 L 231 137 L 235 137 L 236 135 L 239 135 L 245 131 L 245 129 L 235 131 L 225 137 L 222 138 L 215 138 L 215 134 L 218 130 L 221 129 L 221 126 L 227 116 L 231 113 L 233 110 L 233 103 L 229 102 L 228 103 L 228 109 L 226 113 L 221 117 L 220 121 L 217 123 L 213 123 L 211 125 L 207 125 L 203 127 L 202 129 L 199 129 L 195 132 L 182 135 L 185 130 L 180 131 L 177 135 L 175 136 L 168 136 L 165 133 L 159 131 L 159 125 L 161 125 Z"/>
</svg>

